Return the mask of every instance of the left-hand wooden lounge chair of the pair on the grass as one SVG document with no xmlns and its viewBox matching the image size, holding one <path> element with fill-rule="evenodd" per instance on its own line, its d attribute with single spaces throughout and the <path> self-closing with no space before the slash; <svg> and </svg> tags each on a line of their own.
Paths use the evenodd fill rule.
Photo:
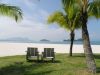
<svg viewBox="0 0 100 75">
<path fill-rule="evenodd" d="M 26 54 L 26 60 L 29 61 L 32 58 L 36 58 L 36 57 L 37 57 L 37 60 L 39 60 L 38 48 L 28 47 L 27 54 Z"/>
</svg>

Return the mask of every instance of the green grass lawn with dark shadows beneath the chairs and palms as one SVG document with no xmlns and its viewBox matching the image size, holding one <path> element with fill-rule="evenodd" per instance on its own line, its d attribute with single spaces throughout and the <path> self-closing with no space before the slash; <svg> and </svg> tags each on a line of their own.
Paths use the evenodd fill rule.
<svg viewBox="0 0 100 75">
<path fill-rule="evenodd" d="M 95 55 L 100 75 L 100 55 Z M 84 54 L 57 54 L 55 63 L 26 62 L 25 56 L 0 57 L 0 75 L 92 75 L 87 72 Z"/>
</svg>

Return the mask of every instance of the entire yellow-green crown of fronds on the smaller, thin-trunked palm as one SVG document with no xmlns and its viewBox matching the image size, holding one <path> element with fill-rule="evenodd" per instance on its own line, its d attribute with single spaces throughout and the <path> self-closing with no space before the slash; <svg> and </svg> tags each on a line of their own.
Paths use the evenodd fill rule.
<svg viewBox="0 0 100 75">
<path fill-rule="evenodd" d="M 48 17 L 48 23 L 57 23 L 60 27 L 73 31 L 81 28 L 80 22 L 80 6 L 74 3 L 77 0 L 62 0 L 63 9 L 62 12 L 54 12 Z"/>
</svg>

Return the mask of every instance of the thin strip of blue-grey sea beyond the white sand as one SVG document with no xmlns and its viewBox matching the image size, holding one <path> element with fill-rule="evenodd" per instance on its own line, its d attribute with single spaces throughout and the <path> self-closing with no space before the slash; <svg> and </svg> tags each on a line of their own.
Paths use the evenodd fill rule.
<svg viewBox="0 0 100 75">
<path fill-rule="evenodd" d="M 0 41 L 0 43 L 39 43 L 39 44 L 70 44 L 70 41 Z M 100 41 L 90 41 L 91 45 L 100 45 Z M 74 41 L 74 44 L 83 44 L 82 41 Z"/>
</svg>

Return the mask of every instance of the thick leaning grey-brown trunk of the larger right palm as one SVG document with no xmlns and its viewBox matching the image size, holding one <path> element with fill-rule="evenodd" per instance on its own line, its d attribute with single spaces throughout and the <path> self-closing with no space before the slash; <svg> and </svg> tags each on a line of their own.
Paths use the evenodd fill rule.
<svg viewBox="0 0 100 75">
<path fill-rule="evenodd" d="M 93 52 L 90 45 L 89 33 L 87 29 L 87 12 L 82 13 L 82 38 L 84 53 L 86 56 L 87 67 L 90 72 L 96 73 L 96 64 L 93 56 Z"/>
</svg>

